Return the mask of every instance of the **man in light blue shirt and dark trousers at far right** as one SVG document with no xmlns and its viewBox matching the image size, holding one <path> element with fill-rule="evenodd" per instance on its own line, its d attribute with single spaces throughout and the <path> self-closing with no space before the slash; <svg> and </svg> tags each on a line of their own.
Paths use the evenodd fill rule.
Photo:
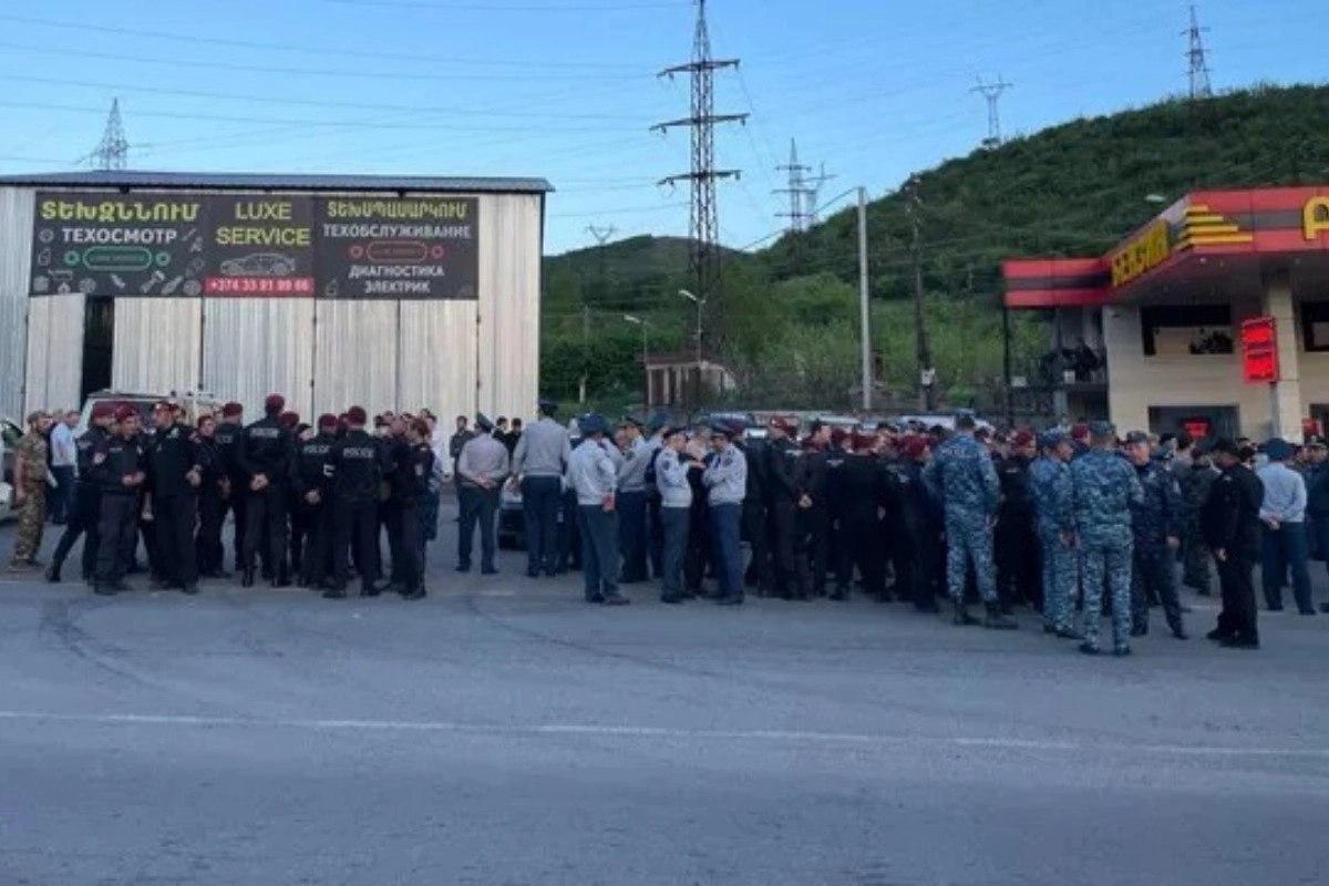
<svg viewBox="0 0 1329 886">
<path fill-rule="evenodd" d="M 1292 445 L 1271 440 L 1264 445 L 1268 464 L 1259 470 L 1264 486 L 1260 522 L 1264 523 L 1260 583 L 1271 612 L 1282 610 L 1282 584 L 1292 571 L 1292 595 L 1302 615 L 1314 615 L 1310 600 L 1310 542 L 1306 537 L 1306 481 L 1288 464 Z"/>
</svg>

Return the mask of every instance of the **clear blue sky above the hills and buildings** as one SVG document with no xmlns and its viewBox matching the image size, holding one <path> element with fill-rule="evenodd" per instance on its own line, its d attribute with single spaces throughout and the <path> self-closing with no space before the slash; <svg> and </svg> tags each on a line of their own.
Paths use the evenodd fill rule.
<svg viewBox="0 0 1329 886">
<path fill-rule="evenodd" d="M 720 240 L 788 221 L 791 139 L 827 209 L 1006 137 L 1188 85 L 1177 0 L 710 0 Z M 1197 5 L 1215 90 L 1318 82 L 1329 4 Z M 0 0 L 0 174 L 88 169 L 120 98 L 142 170 L 541 177 L 545 248 L 687 235 L 690 0 Z M 840 198 L 841 202 L 836 202 Z"/>
</svg>

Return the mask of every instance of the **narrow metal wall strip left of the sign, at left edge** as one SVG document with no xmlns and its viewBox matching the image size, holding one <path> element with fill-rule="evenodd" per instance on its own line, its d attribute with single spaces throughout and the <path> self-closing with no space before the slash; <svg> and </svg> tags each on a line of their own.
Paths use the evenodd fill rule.
<svg viewBox="0 0 1329 886">
<path fill-rule="evenodd" d="M 0 414 L 23 418 L 33 193 L 0 189 Z"/>
</svg>

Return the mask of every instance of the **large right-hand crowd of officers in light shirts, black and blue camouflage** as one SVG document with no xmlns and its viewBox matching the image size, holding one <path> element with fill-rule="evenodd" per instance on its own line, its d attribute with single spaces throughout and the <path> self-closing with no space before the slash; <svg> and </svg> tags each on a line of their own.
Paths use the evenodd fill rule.
<svg viewBox="0 0 1329 886">
<path fill-rule="evenodd" d="M 1188 639 L 1176 587 L 1187 542 L 1188 565 L 1212 557 L 1223 588 L 1209 639 L 1259 647 L 1252 571 L 1263 490 L 1235 441 L 1215 441 L 1185 466 L 1188 487 L 1192 474 L 1207 476 L 1204 491 L 1184 501 L 1158 441 L 1140 432 L 1119 440 L 1107 422 L 1038 436 L 978 432 L 969 416 L 950 430 L 813 424 L 801 440 L 797 430 L 777 417 L 755 438 L 740 424 L 667 426 L 661 414 L 625 417 L 611 432 L 602 417 L 583 417 L 582 442 L 565 461 L 591 561 L 586 599 L 626 602 L 619 584 L 646 580 L 647 566 L 667 603 L 735 604 L 746 590 L 848 600 L 861 587 L 929 612 L 948 599 L 954 624 L 994 630 L 1015 628 L 1013 607 L 1027 604 L 1045 632 L 1079 640 L 1087 655 L 1100 651 L 1106 612 L 1112 652 L 1130 655 L 1154 606 Z M 740 539 L 751 549 L 746 570 Z M 530 574 L 545 557 L 532 550 Z M 981 620 L 968 608 L 974 596 Z"/>
</svg>

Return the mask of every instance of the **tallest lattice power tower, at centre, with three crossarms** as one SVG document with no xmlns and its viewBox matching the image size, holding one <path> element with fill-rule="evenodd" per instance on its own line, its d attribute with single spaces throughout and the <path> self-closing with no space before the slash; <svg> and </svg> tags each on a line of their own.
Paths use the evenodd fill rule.
<svg viewBox="0 0 1329 886">
<path fill-rule="evenodd" d="M 662 133 L 676 126 L 686 126 L 691 130 L 692 169 L 663 178 L 661 185 L 687 182 L 691 186 L 690 271 L 696 294 L 707 298 L 711 304 L 718 303 L 718 299 L 711 296 L 719 279 L 719 252 L 715 247 L 719 240 L 720 223 L 715 205 L 715 182 L 739 177 L 736 169 L 715 167 L 715 125 L 743 124 L 748 118 L 748 114 L 715 113 L 715 72 L 723 68 L 738 68 L 738 58 L 714 58 L 711 56 L 711 35 L 706 25 L 706 0 L 696 0 L 692 60 L 687 64 L 666 68 L 659 73 L 661 77 L 670 78 L 678 74 L 688 76 L 692 86 L 691 114 L 651 126 L 653 132 Z"/>
</svg>

